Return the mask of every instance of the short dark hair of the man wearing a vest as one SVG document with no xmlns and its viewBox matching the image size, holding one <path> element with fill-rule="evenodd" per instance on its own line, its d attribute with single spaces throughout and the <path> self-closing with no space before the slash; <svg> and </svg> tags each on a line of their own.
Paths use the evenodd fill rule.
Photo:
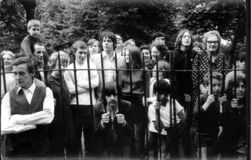
<svg viewBox="0 0 251 160">
<path fill-rule="evenodd" d="M 34 68 L 35 62 L 34 62 L 34 60 L 32 58 L 29 58 L 27 56 L 19 57 L 19 58 L 13 60 L 13 62 L 12 62 L 13 66 L 18 66 L 20 64 L 27 64 L 28 72 L 30 74 L 34 73 L 34 71 L 35 71 L 35 68 Z"/>
</svg>

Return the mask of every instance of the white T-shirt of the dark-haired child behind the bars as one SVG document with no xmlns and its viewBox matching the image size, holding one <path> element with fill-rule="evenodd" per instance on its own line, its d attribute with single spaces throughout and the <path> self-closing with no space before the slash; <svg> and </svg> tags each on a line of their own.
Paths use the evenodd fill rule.
<svg viewBox="0 0 251 160">
<path fill-rule="evenodd" d="M 154 127 L 154 121 L 156 121 L 156 110 L 154 105 L 156 104 L 156 97 L 154 99 L 154 102 L 149 106 L 148 109 L 148 117 L 149 117 L 149 131 L 158 133 L 158 131 Z M 172 104 L 172 108 L 174 104 Z M 183 107 L 179 104 L 178 101 L 175 100 L 175 107 L 176 107 L 176 123 L 178 124 L 180 122 L 180 118 L 178 117 L 178 113 L 183 110 Z M 173 114 L 173 110 L 172 110 Z M 168 102 L 166 103 L 166 106 L 160 107 L 160 120 L 163 122 L 164 127 L 170 127 L 170 96 L 168 97 Z M 172 115 L 172 124 L 174 124 L 174 115 Z M 166 135 L 167 132 L 165 129 L 162 129 L 161 131 L 162 135 Z"/>
</svg>

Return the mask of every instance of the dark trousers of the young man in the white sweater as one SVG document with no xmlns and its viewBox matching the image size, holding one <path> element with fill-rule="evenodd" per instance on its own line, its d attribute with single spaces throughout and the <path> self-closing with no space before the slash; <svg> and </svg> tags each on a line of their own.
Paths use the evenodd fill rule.
<svg viewBox="0 0 251 160">
<path fill-rule="evenodd" d="M 82 155 L 82 131 L 84 132 L 85 154 L 93 155 L 94 142 L 94 122 L 93 111 L 90 105 L 72 105 L 73 122 L 76 133 L 76 154 Z"/>
</svg>

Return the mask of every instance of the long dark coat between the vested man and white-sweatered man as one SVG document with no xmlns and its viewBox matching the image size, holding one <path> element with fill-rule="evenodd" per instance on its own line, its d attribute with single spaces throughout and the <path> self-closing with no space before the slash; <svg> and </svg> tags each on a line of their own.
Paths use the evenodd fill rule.
<svg viewBox="0 0 251 160">
<path fill-rule="evenodd" d="M 51 88 L 56 100 L 54 119 L 49 125 L 48 135 L 51 145 L 51 154 L 63 156 L 71 151 L 74 145 L 75 132 L 70 108 L 70 94 L 64 78 L 48 76 L 48 87 Z"/>
</svg>

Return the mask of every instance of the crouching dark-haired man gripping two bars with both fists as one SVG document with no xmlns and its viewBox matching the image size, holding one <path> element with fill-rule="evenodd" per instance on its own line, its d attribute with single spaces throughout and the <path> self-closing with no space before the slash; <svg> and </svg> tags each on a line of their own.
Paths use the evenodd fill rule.
<svg viewBox="0 0 251 160">
<path fill-rule="evenodd" d="M 95 132 L 99 155 L 128 158 L 133 135 L 131 103 L 118 103 L 116 83 L 110 82 L 103 91 L 103 100 L 94 106 Z"/>
</svg>

